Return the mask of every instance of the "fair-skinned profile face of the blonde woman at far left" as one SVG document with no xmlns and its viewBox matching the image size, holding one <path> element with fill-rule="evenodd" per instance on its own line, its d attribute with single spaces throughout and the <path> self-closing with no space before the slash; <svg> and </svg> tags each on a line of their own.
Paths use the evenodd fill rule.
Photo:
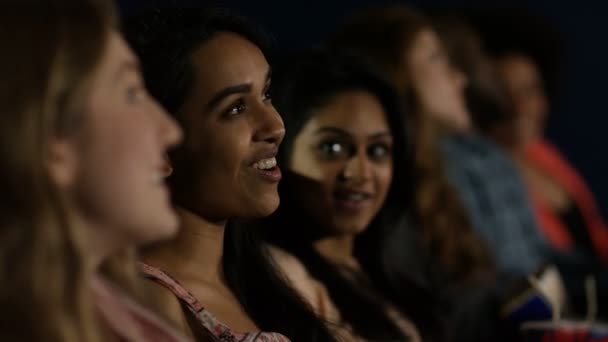
<svg viewBox="0 0 608 342">
<path fill-rule="evenodd" d="M 148 95 L 138 61 L 118 32 L 90 79 L 78 127 L 54 138 L 51 176 L 67 191 L 96 246 L 120 248 L 172 236 L 166 150 L 181 130 Z"/>
</svg>

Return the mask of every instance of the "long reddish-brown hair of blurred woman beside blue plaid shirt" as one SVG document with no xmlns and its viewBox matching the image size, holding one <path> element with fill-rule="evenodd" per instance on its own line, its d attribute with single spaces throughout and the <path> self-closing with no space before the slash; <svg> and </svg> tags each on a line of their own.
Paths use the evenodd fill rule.
<svg viewBox="0 0 608 342">
<path fill-rule="evenodd" d="M 422 242 L 431 255 L 461 280 L 491 270 L 489 254 L 473 231 L 469 217 L 443 171 L 438 142 L 441 129 L 420 110 L 411 85 L 407 56 L 416 37 L 433 27 L 413 9 L 402 5 L 361 11 L 330 40 L 334 48 L 367 60 L 391 80 L 409 105 L 415 146 L 416 182 L 413 216 L 422 230 Z"/>
</svg>

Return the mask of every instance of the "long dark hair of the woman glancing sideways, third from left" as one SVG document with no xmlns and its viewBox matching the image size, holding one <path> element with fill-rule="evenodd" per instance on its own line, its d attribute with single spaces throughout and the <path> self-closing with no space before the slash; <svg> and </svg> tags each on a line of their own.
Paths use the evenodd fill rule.
<svg viewBox="0 0 608 342">
<path fill-rule="evenodd" d="M 268 219 L 258 222 L 268 241 L 296 255 L 328 289 L 341 316 L 354 331 L 371 340 L 403 340 L 402 331 L 388 317 L 385 300 L 409 317 L 426 339 L 439 331 L 430 295 L 404 271 L 402 253 L 392 249 L 389 239 L 401 224 L 413 194 L 412 151 L 402 113 L 402 104 L 389 84 L 358 64 L 352 56 L 322 50 L 307 51 L 275 67 L 271 94 L 285 122 L 287 134 L 279 153 L 279 163 L 288 165 L 293 142 L 315 109 L 327 104 L 336 95 L 350 90 L 364 90 L 382 104 L 394 139 L 393 179 L 387 199 L 364 233 L 355 239 L 355 257 L 365 278 L 354 284 L 344 273 L 323 258 L 313 241 L 327 234 L 310 217 L 303 217 L 294 193 L 297 175 L 284 172 L 279 185 L 281 206 Z M 396 246 L 403 248 L 403 246 Z M 384 298 L 381 299 L 378 294 Z"/>
</svg>

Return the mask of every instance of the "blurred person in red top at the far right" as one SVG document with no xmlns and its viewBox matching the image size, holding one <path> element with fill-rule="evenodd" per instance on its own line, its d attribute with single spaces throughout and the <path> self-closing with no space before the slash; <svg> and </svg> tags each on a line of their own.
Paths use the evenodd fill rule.
<svg viewBox="0 0 608 342">
<path fill-rule="evenodd" d="M 543 137 L 549 102 L 538 67 L 520 52 L 504 54 L 496 66 L 515 114 L 509 147 L 528 186 L 539 226 L 557 252 L 565 281 L 582 287 L 583 276 L 595 274 L 601 296 L 608 288 L 608 227 L 582 175 Z M 577 306 L 582 295 L 574 292 Z"/>
</svg>

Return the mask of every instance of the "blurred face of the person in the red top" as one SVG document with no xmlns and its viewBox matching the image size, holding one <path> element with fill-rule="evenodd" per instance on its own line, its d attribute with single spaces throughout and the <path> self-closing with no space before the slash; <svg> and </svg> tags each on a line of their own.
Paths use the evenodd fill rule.
<svg viewBox="0 0 608 342">
<path fill-rule="evenodd" d="M 497 66 L 515 110 L 518 141 L 525 145 L 542 136 L 549 110 L 540 72 L 520 54 L 500 59 Z"/>
</svg>

